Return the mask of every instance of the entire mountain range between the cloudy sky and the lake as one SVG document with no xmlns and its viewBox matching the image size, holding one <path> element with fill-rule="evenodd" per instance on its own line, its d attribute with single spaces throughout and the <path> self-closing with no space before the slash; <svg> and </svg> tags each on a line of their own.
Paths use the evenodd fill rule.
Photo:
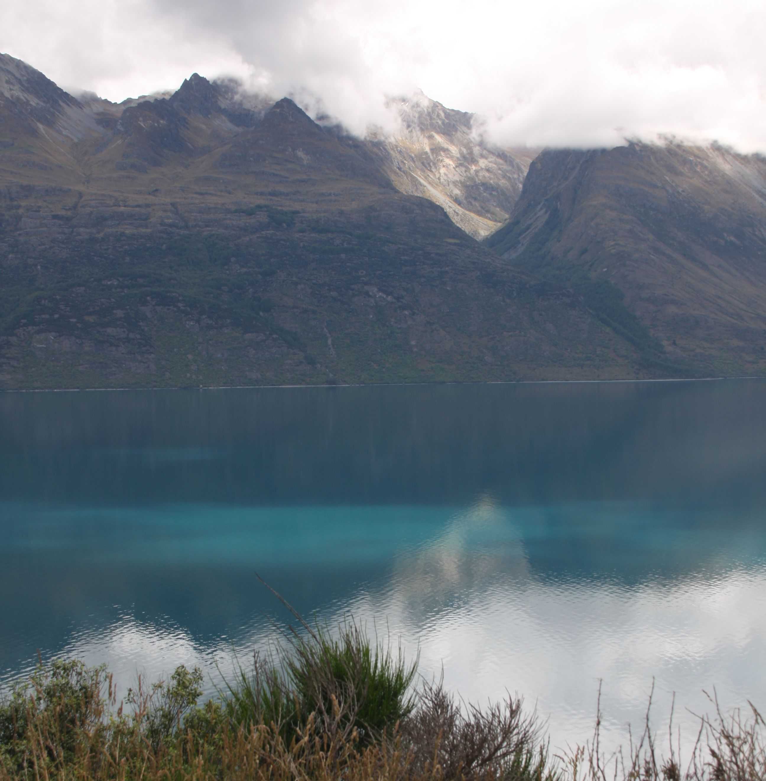
<svg viewBox="0 0 766 781">
<path fill-rule="evenodd" d="M 359 139 L 198 75 L 0 55 L 0 388 L 766 373 L 766 160 L 499 149 L 424 95 Z"/>
</svg>

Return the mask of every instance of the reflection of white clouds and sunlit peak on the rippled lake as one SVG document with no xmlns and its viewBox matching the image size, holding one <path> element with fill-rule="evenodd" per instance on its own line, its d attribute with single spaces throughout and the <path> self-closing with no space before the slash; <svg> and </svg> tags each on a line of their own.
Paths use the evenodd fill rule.
<svg viewBox="0 0 766 781">
<path fill-rule="evenodd" d="M 385 583 L 341 597 L 321 617 L 332 626 L 354 615 L 379 633 L 387 623 L 408 655 L 420 649 L 423 673 L 444 664 L 447 685 L 472 701 L 518 691 L 550 718 L 558 745 L 590 736 L 599 679 L 607 741 L 624 739 L 627 722 L 640 724 L 653 679 L 657 723 L 664 726 L 675 690 L 676 720 L 689 738 L 686 708 L 708 709 L 704 687 L 717 686 L 725 707 L 748 697 L 759 704 L 766 691 L 762 563 L 636 585 L 555 580 L 529 565 L 514 513 L 483 497 L 436 537 L 398 554 Z M 219 683 L 216 663 L 230 676 L 233 651 L 247 664 L 274 633 L 261 621 L 202 641 L 169 620 L 124 615 L 73 638 L 66 654 L 109 660 L 123 686 L 137 671 L 156 679 L 181 663 L 199 665 Z"/>
</svg>

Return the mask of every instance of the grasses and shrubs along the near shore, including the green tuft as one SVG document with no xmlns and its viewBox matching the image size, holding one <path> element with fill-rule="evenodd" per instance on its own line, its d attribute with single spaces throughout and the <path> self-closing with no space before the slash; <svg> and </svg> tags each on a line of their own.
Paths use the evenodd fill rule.
<svg viewBox="0 0 766 781">
<path fill-rule="evenodd" d="M 0 702 L 0 781 L 16 779 L 347 779 L 347 781 L 756 781 L 766 779 L 764 720 L 700 719 L 690 761 L 660 757 L 647 729 L 626 751 L 593 740 L 550 751 L 517 697 L 479 708 L 354 622 L 337 637 L 305 626 L 219 696 L 179 667 L 116 702 L 112 676 L 78 661 L 40 665 Z M 648 722 L 648 719 L 647 719 Z"/>
</svg>

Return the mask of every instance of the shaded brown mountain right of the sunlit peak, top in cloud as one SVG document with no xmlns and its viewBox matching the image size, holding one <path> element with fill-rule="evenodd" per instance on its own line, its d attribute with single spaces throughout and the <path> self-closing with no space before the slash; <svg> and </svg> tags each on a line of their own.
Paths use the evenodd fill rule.
<svg viewBox="0 0 766 781">
<path fill-rule="evenodd" d="M 646 356 L 766 371 L 766 159 L 630 144 L 546 151 L 486 244 L 575 287 Z"/>
</svg>

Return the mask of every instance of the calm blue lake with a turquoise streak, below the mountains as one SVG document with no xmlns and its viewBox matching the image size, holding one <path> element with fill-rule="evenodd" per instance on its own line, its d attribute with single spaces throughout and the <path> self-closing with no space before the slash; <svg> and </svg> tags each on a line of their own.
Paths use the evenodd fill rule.
<svg viewBox="0 0 766 781">
<path fill-rule="evenodd" d="M 766 708 L 766 382 L 0 394 L 0 683 L 354 615 L 551 740 Z M 709 708 L 707 708 L 709 709 Z M 616 738 L 615 738 L 616 739 Z"/>
</svg>

